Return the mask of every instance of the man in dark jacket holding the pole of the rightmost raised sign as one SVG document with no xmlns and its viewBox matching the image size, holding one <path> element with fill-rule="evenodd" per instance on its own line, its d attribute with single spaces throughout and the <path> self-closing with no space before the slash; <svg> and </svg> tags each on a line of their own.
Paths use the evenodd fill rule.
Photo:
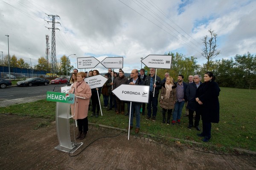
<svg viewBox="0 0 256 170">
<path fill-rule="evenodd" d="M 154 68 L 150 69 L 150 75 L 145 78 L 144 84 L 149 86 L 149 98 L 147 104 L 148 116 L 147 120 L 151 118 L 151 106 L 153 107 L 152 121 L 156 121 L 157 115 L 157 104 L 158 104 L 158 94 L 162 87 L 161 79 L 159 76 L 155 75 L 156 70 Z"/>
</svg>

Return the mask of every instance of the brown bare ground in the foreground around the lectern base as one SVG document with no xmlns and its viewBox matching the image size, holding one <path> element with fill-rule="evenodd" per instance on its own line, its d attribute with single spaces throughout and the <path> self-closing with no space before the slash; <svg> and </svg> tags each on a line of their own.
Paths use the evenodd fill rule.
<svg viewBox="0 0 256 170">
<path fill-rule="evenodd" d="M 71 157 L 54 149 L 55 123 L 34 130 L 42 121 L 0 114 L 1 170 L 256 170 L 255 156 L 215 155 L 134 136 L 127 140 L 127 133 L 93 125 L 73 155 L 81 153 Z M 70 134 L 73 138 L 73 125 Z"/>
</svg>

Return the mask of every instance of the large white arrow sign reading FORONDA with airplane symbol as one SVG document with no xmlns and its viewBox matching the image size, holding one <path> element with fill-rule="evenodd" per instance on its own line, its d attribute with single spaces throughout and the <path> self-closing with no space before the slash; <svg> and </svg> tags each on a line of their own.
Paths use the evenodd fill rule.
<svg viewBox="0 0 256 170">
<path fill-rule="evenodd" d="M 121 101 L 148 103 L 149 86 L 122 84 L 112 92 Z"/>
</svg>

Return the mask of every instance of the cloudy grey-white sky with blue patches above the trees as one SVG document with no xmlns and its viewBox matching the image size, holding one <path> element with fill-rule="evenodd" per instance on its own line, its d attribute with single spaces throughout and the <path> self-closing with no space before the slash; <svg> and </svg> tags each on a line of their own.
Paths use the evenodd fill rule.
<svg viewBox="0 0 256 170">
<path fill-rule="evenodd" d="M 215 59 L 256 54 L 256 0 L 0 0 L 0 51 L 37 64 L 51 47 L 52 18 L 56 57 L 123 57 L 125 72 L 140 69 L 148 55 L 178 52 L 195 56 L 199 64 L 202 38 L 218 34 Z M 46 20 L 46 21 L 45 21 Z M 51 49 L 50 49 L 51 51 Z M 50 55 L 49 55 L 50 58 Z M 107 72 L 99 64 L 95 69 Z"/>
</svg>

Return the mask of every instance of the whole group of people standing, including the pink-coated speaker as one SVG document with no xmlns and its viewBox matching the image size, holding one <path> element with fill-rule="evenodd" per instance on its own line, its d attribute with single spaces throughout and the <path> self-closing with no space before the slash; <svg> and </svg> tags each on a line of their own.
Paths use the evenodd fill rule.
<svg viewBox="0 0 256 170">
<path fill-rule="evenodd" d="M 78 72 L 78 71 L 77 71 Z M 73 72 L 70 79 L 70 83 L 73 83 L 75 87 L 75 95 L 84 96 L 85 99 L 79 98 L 76 100 L 76 104 L 72 104 L 71 108 L 74 108 L 75 105 L 78 105 L 77 109 L 73 111 L 72 114 L 79 115 L 79 110 L 83 110 L 83 116 L 75 117 L 75 119 L 81 119 L 78 121 L 79 133 L 77 138 L 83 139 L 88 130 L 88 109 L 90 105 L 90 100 L 93 106 L 93 113 L 91 116 L 99 116 L 99 98 L 100 94 L 103 95 L 104 107 L 108 108 L 107 110 L 115 110 L 116 114 L 125 114 L 125 102 L 120 101 L 119 98 L 112 93 L 113 89 L 116 89 L 122 84 L 129 85 L 147 85 L 149 86 L 149 99 L 147 104 L 147 120 L 156 121 L 157 116 L 157 105 L 158 101 L 160 102 L 160 107 L 162 108 L 163 123 L 180 124 L 181 112 L 183 106 L 186 103 L 186 109 L 188 109 L 189 115 L 189 125 L 188 128 L 191 129 L 193 126 L 196 130 L 200 131 L 199 121 L 202 119 L 203 131 L 198 134 L 198 136 L 204 137 L 203 141 L 207 142 L 211 138 L 211 123 L 218 123 L 219 121 L 219 102 L 218 95 L 220 89 L 218 84 L 215 82 L 215 76 L 212 72 L 206 72 L 204 74 L 204 83 L 201 82 L 201 75 L 190 75 L 189 82 L 185 83 L 183 81 L 183 75 L 178 75 L 177 82 L 174 82 L 174 79 L 169 76 L 169 73 L 165 73 L 165 78 L 160 79 L 159 76 L 155 75 L 155 69 L 150 69 L 150 74 L 145 75 L 145 69 L 133 69 L 131 71 L 131 78 L 128 79 L 125 77 L 122 69 L 119 69 L 118 73 L 108 69 L 108 73 L 105 74 L 105 77 L 108 78 L 108 81 L 100 87 L 95 89 L 90 89 L 87 85 L 84 85 L 84 78 L 87 77 L 87 72 Z M 84 73 L 84 74 L 82 74 Z M 89 72 L 88 77 L 99 75 L 98 70 L 93 70 Z M 80 76 L 78 78 L 78 76 Z M 84 77 L 83 77 L 84 76 Z M 86 84 L 86 83 L 85 83 Z M 80 85 L 82 85 L 80 87 Z M 88 91 L 89 88 L 90 92 Z M 80 89 L 80 90 L 79 90 Z M 160 90 L 161 89 L 161 90 Z M 70 90 L 71 92 L 72 90 Z M 98 93 L 98 94 L 97 94 Z M 159 95 L 160 94 L 160 95 Z M 80 108 L 79 102 L 82 103 L 83 107 Z M 108 107 L 109 104 L 109 107 Z M 131 120 L 130 125 L 127 129 L 133 128 L 133 118 L 136 115 L 136 128 L 135 133 L 140 131 L 140 112 L 142 115 L 145 115 L 145 104 L 130 102 L 128 103 L 128 110 L 131 107 Z M 96 110 L 97 109 L 97 110 Z M 167 112 L 167 119 L 166 119 Z M 195 122 L 193 117 L 195 115 Z M 171 119 L 172 116 L 172 119 Z"/>
</svg>

